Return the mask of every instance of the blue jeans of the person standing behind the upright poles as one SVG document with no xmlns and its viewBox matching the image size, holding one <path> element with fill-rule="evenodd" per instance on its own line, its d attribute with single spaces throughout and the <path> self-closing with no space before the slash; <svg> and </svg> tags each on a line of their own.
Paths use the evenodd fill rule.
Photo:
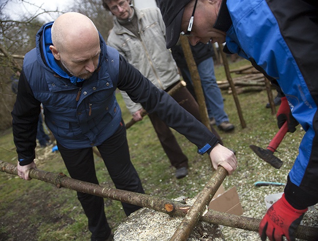
<svg viewBox="0 0 318 241">
<path fill-rule="evenodd" d="M 220 125 L 224 121 L 228 121 L 227 113 L 224 110 L 223 96 L 221 89 L 216 83 L 214 74 L 213 58 L 208 58 L 197 65 L 202 89 L 204 92 L 205 104 L 209 118 L 214 117 L 216 125 Z M 182 68 L 183 78 L 191 81 L 191 75 L 187 68 Z"/>
</svg>

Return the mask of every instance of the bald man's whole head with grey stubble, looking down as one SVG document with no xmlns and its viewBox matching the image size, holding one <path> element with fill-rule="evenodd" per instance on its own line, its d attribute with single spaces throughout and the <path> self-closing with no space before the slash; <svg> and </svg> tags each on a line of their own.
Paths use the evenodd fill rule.
<svg viewBox="0 0 318 241">
<path fill-rule="evenodd" d="M 53 23 L 51 35 L 49 48 L 68 73 L 80 79 L 91 77 L 101 51 L 94 23 L 83 14 L 65 13 Z"/>
</svg>

